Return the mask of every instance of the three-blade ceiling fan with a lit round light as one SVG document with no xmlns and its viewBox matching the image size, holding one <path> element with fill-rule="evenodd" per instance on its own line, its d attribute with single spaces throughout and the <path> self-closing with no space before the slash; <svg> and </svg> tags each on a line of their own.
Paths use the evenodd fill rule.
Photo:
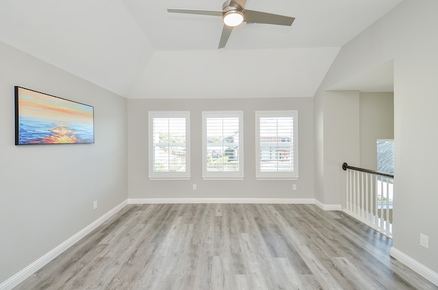
<svg viewBox="0 0 438 290">
<path fill-rule="evenodd" d="M 167 11 L 172 13 L 222 16 L 222 19 L 224 21 L 224 28 L 222 29 L 222 35 L 220 36 L 218 47 L 219 49 L 222 49 L 223 47 L 225 47 L 225 44 L 227 44 L 228 38 L 231 35 L 231 31 L 233 31 L 233 27 L 240 25 L 240 23 L 242 22 L 291 26 L 295 20 L 294 17 L 246 10 L 245 3 L 246 0 L 227 0 L 222 5 L 222 10 L 193 10 L 169 8 Z"/>
</svg>

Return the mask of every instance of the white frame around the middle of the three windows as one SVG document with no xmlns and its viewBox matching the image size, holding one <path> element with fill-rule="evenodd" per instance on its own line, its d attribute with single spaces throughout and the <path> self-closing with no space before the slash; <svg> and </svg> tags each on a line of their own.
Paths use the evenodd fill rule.
<svg viewBox="0 0 438 290">
<path fill-rule="evenodd" d="M 239 170 L 207 171 L 207 118 L 239 118 Z M 244 179 L 244 111 L 203 111 L 202 112 L 202 161 L 203 180 L 243 180 Z"/>
</svg>

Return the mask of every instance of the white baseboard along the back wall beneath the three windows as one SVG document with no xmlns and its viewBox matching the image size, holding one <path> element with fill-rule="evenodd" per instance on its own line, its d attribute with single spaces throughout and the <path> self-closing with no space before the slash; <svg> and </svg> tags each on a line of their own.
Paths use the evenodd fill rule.
<svg viewBox="0 0 438 290">
<path fill-rule="evenodd" d="M 314 205 L 314 198 L 129 198 L 130 205 L 153 203 L 264 203 Z"/>
</svg>

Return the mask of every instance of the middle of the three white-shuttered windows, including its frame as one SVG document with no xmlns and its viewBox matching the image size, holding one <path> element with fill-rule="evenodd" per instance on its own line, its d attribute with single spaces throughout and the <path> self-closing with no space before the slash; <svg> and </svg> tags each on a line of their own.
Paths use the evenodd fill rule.
<svg viewBox="0 0 438 290">
<path fill-rule="evenodd" d="M 243 111 L 203 111 L 203 179 L 243 179 Z"/>
</svg>

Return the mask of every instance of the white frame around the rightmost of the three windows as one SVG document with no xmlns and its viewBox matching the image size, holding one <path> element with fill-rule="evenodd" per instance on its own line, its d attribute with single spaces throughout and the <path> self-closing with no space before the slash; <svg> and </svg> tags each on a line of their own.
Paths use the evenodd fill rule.
<svg viewBox="0 0 438 290">
<path fill-rule="evenodd" d="M 260 118 L 293 118 L 292 150 L 294 155 L 293 171 L 260 171 Z M 298 110 L 255 111 L 255 178 L 257 180 L 297 180 L 298 179 Z"/>
</svg>

